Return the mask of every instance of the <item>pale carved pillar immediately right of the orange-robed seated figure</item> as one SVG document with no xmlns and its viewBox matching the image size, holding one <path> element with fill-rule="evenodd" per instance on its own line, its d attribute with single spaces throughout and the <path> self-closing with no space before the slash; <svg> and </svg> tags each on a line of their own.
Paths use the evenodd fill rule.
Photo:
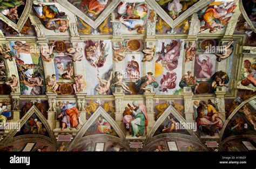
<svg viewBox="0 0 256 169">
<path fill-rule="evenodd" d="M 79 111 L 79 123 L 81 125 L 83 125 L 86 122 L 85 96 L 86 96 L 86 93 L 76 93 L 77 108 Z"/>
</svg>

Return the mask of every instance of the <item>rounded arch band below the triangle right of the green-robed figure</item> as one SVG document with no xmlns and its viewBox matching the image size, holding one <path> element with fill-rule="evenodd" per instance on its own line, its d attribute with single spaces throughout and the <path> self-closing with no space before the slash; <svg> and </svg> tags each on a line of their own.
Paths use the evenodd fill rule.
<svg viewBox="0 0 256 169">
<path fill-rule="evenodd" d="M 198 142 L 198 140 L 196 138 L 194 138 L 193 136 L 189 136 L 189 135 L 183 135 L 180 133 L 164 133 L 161 135 L 157 135 L 155 137 L 153 137 L 150 142 L 147 142 L 146 145 L 143 147 L 142 151 L 147 151 L 150 149 L 150 147 L 152 147 L 153 144 L 160 142 L 161 140 L 180 140 L 180 141 L 184 141 L 184 142 L 188 142 L 188 143 L 192 143 L 194 145 L 197 145 L 201 148 L 203 148 L 203 151 L 209 151 L 207 149 L 207 147 L 202 144 L 201 142 Z"/>
</svg>

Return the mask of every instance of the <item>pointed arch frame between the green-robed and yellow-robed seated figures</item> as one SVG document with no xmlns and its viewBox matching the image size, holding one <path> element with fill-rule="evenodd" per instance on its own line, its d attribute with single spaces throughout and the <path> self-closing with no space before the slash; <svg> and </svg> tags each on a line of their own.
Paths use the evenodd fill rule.
<svg viewBox="0 0 256 169">
<path fill-rule="evenodd" d="M 159 128 L 159 126 L 165 121 L 167 116 L 169 116 L 170 114 L 172 114 L 175 118 L 177 118 L 179 122 L 187 123 L 187 121 L 179 114 L 179 112 L 172 105 L 170 105 L 163 112 L 163 114 L 157 119 L 157 122 L 154 123 L 152 129 L 149 132 L 149 135 L 147 135 L 146 143 L 150 142 L 150 140 L 152 139 L 152 137 L 154 135 L 154 132 L 156 132 L 156 130 Z M 197 136 L 197 134 L 195 132 L 193 132 L 192 130 L 187 130 L 187 131 L 190 133 L 191 136 L 193 136 L 200 142 L 199 137 Z M 163 134 L 161 134 L 161 135 L 163 135 Z"/>
</svg>

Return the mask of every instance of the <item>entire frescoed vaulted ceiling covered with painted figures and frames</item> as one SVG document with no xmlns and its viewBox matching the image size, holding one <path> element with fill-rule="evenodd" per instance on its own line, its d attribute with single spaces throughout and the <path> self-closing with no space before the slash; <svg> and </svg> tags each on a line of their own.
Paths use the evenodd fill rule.
<svg viewBox="0 0 256 169">
<path fill-rule="evenodd" d="M 0 151 L 255 150 L 255 4 L 0 1 Z"/>
</svg>

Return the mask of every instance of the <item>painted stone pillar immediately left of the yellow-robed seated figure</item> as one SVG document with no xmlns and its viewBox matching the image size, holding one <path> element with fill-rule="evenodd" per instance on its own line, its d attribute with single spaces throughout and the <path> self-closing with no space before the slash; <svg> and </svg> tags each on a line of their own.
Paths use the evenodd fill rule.
<svg viewBox="0 0 256 169">
<path fill-rule="evenodd" d="M 184 98 L 184 110 L 185 110 L 185 119 L 187 122 L 194 122 L 193 119 L 193 104 L 192 104 L 192 89 L 191 87 L 184 87 L 182 92 Z"/>
</svg>

